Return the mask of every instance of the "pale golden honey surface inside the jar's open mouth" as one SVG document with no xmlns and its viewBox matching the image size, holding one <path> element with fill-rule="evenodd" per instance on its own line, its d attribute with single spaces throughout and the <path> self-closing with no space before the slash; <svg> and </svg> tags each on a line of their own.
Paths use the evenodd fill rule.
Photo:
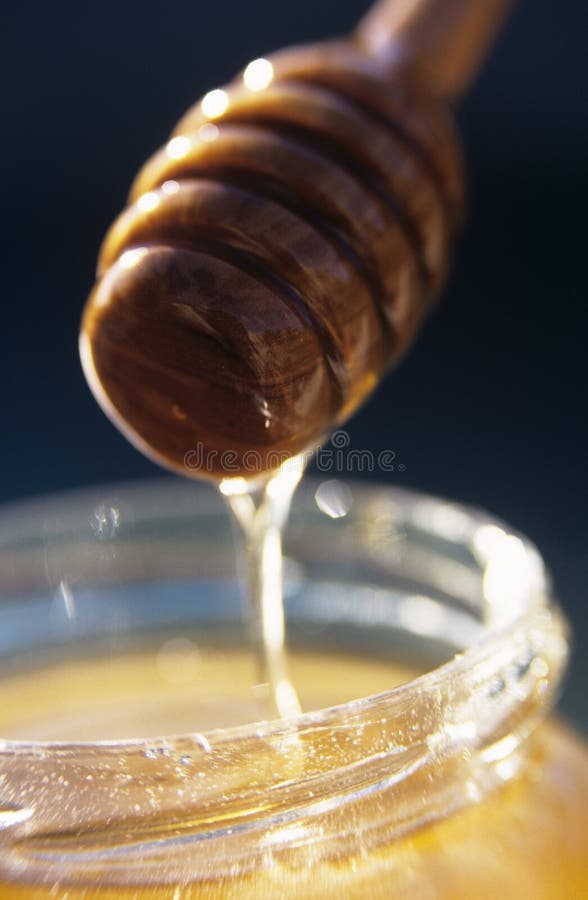
<svg viewBox="0 0 588 900">
<path fill-rule="evenodd" d="M 305 711 L 389 690 L 408 666 L 363 656 L 291 655 Z M 267 718 L 253 654 L 200 650 L 187 638 L 150 652 L 64 661 L 0 679 L 0 735 L 14 740 L 121 740 Z"/>
</svg>

